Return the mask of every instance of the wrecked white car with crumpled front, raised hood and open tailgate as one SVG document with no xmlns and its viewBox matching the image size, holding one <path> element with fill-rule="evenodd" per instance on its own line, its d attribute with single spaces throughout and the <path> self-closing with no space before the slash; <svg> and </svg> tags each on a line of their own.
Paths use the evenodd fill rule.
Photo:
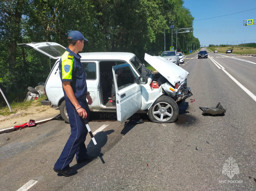
<svg viewBox="0 0 256 191">
<path fill-rule="evenodd" d="M 41 103 L 60 106 L 62 118 L 69 122 L 58 69 L 60 57 L 66 48 L 55 42 L 22 45 L 31 46 L 50 58 L 57 59 L 45 82 L 47 99 Z M 174 122 L 179 113 L 176 102 L 192 95 L 187 87 L 188 72 L 160 56 L 145 54 L 144 59 L 158 71 L 153 74 L 133 53 L 79 54 L 82 56 L 86 83 L 93 100 L 90 110 L 117 112 L 117 120 L 121 123 L 137 112 L 147 113 L 152 122 Z"/>
</svg>

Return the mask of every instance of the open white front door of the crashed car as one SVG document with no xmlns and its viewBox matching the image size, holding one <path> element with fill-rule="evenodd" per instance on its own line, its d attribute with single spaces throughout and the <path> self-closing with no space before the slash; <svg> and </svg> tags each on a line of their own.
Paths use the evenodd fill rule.
<svg viewBox="0 0 256 191">
<path fill-rule="evenodd" d="M 117 121 L 123 123 L 141 108 L 141 84 L 130 64 L 113 66 Z"/>
</svg>

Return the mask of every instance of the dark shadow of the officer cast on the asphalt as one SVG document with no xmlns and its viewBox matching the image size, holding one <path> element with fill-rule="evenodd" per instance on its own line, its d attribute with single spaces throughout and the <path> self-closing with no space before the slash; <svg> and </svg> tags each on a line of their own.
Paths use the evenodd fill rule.
<svg viewBox="0 0 256 191">
<path fill-rule="evenodd" d="M 105 163 L 105 161 L 102 158 L 103 153 L 101 153 L 101 148 L 104 147 L 104 145 L 106 145 L 106 143 L 107 143 L 107 135 L 110 135 L 113 132 L 114 132 L 114 130 L 111 129 L 111 130 L 108 130 L 108 131 L 100 131 L 100 132 L 96 133 L 96 135 L 94 135 L 94 138 L 97 142 L 97 145 L 94 145 L 93 141 L 91 140 L 89 142 L 88 146 L 87 146 L 87 153 L 89 155 L 98 156 L 101 159 L 103 164 Z M 90 136 L 87 136 L 86 138 L 89 138 L 89 137 Z M 75 158 L 74 158 L 74 160 L 75 160 Z M 84 167 L 86 164 L 88 164 L 90 162 L 91 161 L 75 164 L 74 166 L 72 166 L 72 168 L 78 170 L 78 169 Z"/>
</svg>

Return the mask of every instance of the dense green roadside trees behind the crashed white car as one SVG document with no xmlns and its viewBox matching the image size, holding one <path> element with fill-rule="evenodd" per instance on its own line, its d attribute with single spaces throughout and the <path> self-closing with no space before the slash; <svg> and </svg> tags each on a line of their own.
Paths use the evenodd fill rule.
<svg viewBox="0 0 256 191">
<path fill-rule="evenodd" d="M 193 27 L 194 18 L 183 3 L 182 0 L 2 0 L 0 86 L 9 101 L 13 101 L 24 98 L 27 86 L 45 82 L 49 58 L 17 44 L 51 41 L 67 46 L 71 30 L 81 31 L 89 40 L 83 52 L 132 52 L 142 61 L 144 53 L 159 55 L 164 50 L 164 30 L 166 50 L 172 44 L 171 21 L 175 28 Z M 179 33 L 177 37 L 178 51 L 186 53 L 186 44 L 190 43 L 200 46 L 193 32 Z M 176 35 L 173 45 L 176 46 Z"/>
</svg>

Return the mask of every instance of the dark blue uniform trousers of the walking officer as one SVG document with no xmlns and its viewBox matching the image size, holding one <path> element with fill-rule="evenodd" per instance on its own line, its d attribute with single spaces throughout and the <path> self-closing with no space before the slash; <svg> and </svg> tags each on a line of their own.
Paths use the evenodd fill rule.
<svg viewBox="0 0 256 191">
<path fill-rule="evenodd" d="M 89 115 L 90 110 L 87 101 L 78 101 L 78 103 Z M 84 141 L 86 135 L 88 134 L 88 130 L 83 122 L 83 119 L 78 115 L 78 112 L 75 110 L 75 107 L 69 100 L 66 100 L 66 109 L 71 127 L 71 135 L 69 136 L 69 139 L 62 150 L 59 159 L 54 165 L 54 168 L 57 170 L 62 170 L 63 168 L 69 166 L 75 154 L 76 160 L 82 160 L 87 152 Z M 88 119 L 88 116 L 86 119 Z"/>
</svg>

